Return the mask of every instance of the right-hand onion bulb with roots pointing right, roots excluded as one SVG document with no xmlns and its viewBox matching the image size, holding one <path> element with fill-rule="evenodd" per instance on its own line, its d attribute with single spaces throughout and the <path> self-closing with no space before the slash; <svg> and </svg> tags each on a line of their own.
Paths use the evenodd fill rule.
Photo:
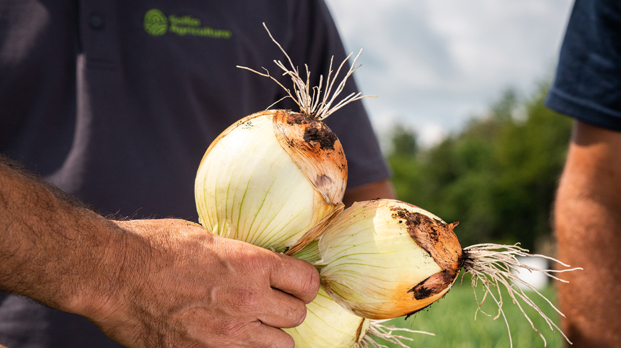
<svg viewBox="0 0 621 348">
<path fill-rule="evenodd" d="M 322 286 L 364 318 L 419 311 L 448 292 L 461 268 L 455 226 L 405 202 L 356 202 L 319 237 Z"/>
</svg>

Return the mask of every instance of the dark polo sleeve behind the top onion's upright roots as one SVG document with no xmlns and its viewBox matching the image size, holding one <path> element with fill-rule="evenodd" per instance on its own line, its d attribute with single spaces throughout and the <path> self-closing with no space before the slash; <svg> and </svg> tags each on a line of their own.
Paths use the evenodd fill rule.
<svg viewBox="0 0 621 348">
<path fill-rule="evenodd" d="M 333 56 L 333 75 L 347 54 L 324 0 L 303 0 L 297 3 L 299 7 L 296 14 L 290 19 L 293 21 L 291 24 L 293 30 L 285 48 L 293 63 L 301 64 L 300 71 L 303 71 L 303 64 L 309 66 L 311 84 L 315 86 L 319 84 L 320 75 L 324 76 L 325 83 L 330 58 Z M 353 57 L 349 62 L 352 60 Z M 345 76 L 347 69 L 349 65 L 345 64 L 337 77 L 337 84 Z M 357 92 L 353 76 L 350 76 L 337 101 Z M 325 123 L 337 134 L 343 145 L 348 165 L 348 188 L 389 178 L 388 166 L 361 100 L 349 103 L 336 111 L 325 119 Z"/>
</svg>

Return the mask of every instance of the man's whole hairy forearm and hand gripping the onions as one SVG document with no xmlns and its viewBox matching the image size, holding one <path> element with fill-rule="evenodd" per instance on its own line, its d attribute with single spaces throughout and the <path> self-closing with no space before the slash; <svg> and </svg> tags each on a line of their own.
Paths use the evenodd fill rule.
<svg viewBox="0 0 621 348">
<path fill-rule="evenodd" d="M 282 347 L 319 289 L 306 261 L 185 220 L 111 221 L 0 157 L 0 290 L 130 348 Z"/>
</svg>

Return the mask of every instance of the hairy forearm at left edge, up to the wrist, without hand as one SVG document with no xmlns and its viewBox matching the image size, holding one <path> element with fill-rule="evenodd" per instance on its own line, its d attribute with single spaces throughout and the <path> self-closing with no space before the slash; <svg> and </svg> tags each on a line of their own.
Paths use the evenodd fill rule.
<svg viewBox="0 0 621 348">
<path fill-rule="evenodd" d="M 116 287 L 125 243 L 114 223 L 78 206 L 37 178 L 0 161 L 0 289 L 88 315 L 94 280 Z M 99 289 L 97 289 L 99 288 Z"/>
</svg>

